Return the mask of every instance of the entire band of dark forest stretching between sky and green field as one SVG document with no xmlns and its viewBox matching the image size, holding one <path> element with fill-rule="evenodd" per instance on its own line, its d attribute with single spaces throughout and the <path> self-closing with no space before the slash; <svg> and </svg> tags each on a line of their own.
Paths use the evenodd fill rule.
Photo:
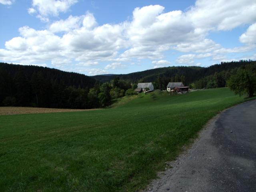
<svg viewBox="0 0 256 192">
<path fill-rule="evenodd" d="M 254 70 L 256 61 L 222 62 L 204 67 L 164 67 L 120 75 L 86 76 L 39 66 L 0 63 L 0 106 L 48 108 L 99 108 L 112 100 L 132 95 L 138 82 L 152 82 L 166 90 L 168 82 L 183 82 L 190 88 L 227 86 L 240 68 Z"/>
</svg>

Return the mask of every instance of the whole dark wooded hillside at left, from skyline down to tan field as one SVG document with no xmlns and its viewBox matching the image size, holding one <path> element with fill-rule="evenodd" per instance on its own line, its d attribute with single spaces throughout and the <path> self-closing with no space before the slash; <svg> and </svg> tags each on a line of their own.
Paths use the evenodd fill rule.
<svg viewBox="0 0 256 192">
<path fill-rule="evenodd" d="M 74 72 L 0 63 L 0 106 L 87 108 L 96 80 Z"/>
</svg>

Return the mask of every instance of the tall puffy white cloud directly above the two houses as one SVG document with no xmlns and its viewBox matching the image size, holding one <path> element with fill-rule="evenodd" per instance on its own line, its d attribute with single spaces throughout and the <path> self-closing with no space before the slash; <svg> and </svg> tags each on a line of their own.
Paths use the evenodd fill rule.
<svg viewBox="0 0 256 192">
<path fill-rule="evenodd" d="M 133 20 L 126 30 L 131 48 L 124 52 L 123 57 L 160 59 L 170 45 L 198 38 L 182 11 L 163 11 L 164 7 L 160 5 L 134 10 Z"/>
</svg>

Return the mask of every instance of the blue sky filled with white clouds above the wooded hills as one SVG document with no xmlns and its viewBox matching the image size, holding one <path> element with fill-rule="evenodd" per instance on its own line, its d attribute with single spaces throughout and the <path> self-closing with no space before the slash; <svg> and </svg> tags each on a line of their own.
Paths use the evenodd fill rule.
<svg viewBox="0 0 256 192">
<path fill-rule="evenodd" d="M 256 60 L 255 0 L 0 0 L 0 62 L 89 76 Z"/>
</svg>

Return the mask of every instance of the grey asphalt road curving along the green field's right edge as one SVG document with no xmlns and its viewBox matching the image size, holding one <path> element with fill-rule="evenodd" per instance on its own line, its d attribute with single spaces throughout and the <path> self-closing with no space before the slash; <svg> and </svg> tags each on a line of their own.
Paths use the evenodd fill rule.
<svg viewBox="0 0 256 192">
<path fill-rule="evenodd" d="M 222 112 L 159 192 L 256 192 L 256 101 Z"/>
</svg>

